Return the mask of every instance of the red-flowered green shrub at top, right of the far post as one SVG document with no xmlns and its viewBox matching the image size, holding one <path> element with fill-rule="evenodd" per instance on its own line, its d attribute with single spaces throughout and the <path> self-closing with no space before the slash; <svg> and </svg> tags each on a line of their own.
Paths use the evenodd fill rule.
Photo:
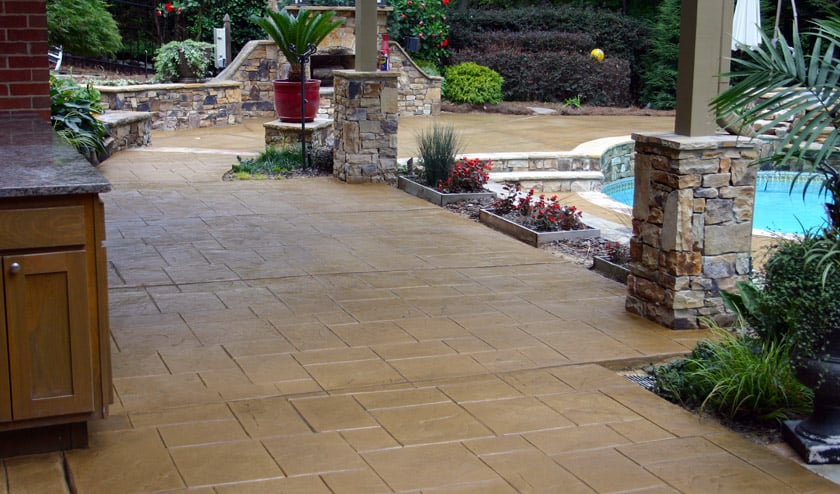
<svg viewBox="0 0 840 494">
<path fill-rule="evenodd" d="M 393 0 L 393 39 L 417 37 L 420 49 L 415 58 L 442 65 L 449 56 L 449 0 Z"/>
</svg>

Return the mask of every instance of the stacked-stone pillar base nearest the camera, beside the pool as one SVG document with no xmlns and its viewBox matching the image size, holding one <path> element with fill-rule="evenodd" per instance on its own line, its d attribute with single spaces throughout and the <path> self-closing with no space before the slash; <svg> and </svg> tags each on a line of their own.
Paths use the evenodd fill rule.
<svg viewBox="0 0 840 494">
<path fill-rule="evenodd" d="M 626 307 L 672 329 L 731 322 L 720 298 L 750 272 L 757 158 L 735 136 L 634 134 Z"/>
</svg>

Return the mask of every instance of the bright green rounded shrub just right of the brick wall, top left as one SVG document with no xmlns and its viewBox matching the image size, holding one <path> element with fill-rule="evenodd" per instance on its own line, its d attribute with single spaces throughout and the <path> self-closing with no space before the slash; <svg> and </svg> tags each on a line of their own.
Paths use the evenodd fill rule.
<svg viewBox="0 0 840 494">
<path fill-rule="evenodd" d="M 74 55 L 113 55 L 122 45 L 117 23 L 102 0 L 48 0 L 51 45 Z"/>
</svg>

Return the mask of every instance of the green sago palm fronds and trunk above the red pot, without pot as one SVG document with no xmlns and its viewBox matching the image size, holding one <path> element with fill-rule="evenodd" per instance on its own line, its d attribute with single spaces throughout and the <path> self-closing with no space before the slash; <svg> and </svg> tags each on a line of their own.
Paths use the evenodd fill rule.
<svg viewBox="0 0 840 494">
<path fill-rule="evenodd" d="M 251 21 L 268 34 L 283 52 L 286 61 L 292 66 L 289 80 L 306 78 L 299 57 L 307 50 L 317 48 L 335 28 L 344 23 L 344 19 L 333 20 L 335 12 L 315 13 L 300 9 L 297 16 L 286 9 L 280 12 L 269 10 L 266 17 L 251 17 Z"/>
</svg>

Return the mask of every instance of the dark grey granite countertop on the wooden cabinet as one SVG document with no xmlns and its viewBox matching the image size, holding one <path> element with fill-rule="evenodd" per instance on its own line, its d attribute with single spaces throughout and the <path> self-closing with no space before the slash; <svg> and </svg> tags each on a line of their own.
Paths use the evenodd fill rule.
<svg viewBox="0 0 840 494">
<path fill-rule="evenodd" d="M 0 197 L 96 194 L 111 184 L 52 129 L 0 122 Z M 17 136 L 13 135 L 17 132 Z M 48 133 L 47 133 L 48 132 Z"/>
</svg>

